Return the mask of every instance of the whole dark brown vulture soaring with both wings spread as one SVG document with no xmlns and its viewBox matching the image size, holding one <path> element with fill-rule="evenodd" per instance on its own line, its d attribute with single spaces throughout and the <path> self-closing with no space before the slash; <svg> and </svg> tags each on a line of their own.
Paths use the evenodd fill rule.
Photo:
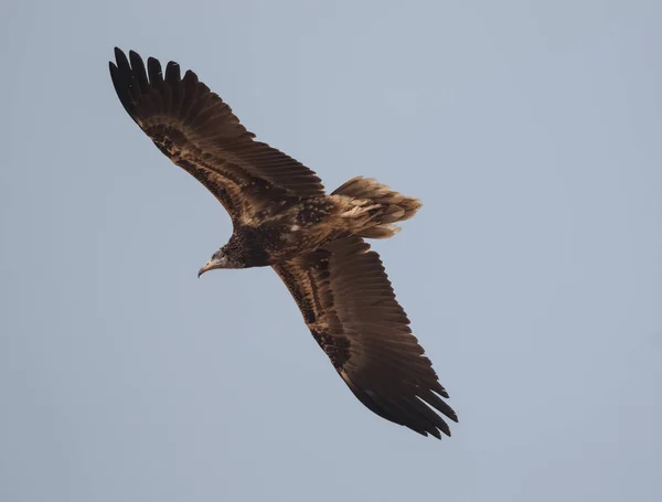
<svg viewBox="0 0 662 502">
<path fill-rule="evenodd" d="M 109 63 L 129 116 L 173 163 L 229 213 L 233 233 L 200 275 L 271 267 L 295 298 L 312 337 L 369 409 L 424 436 L 450 436 L 457 415 L 412 334 L 380 255 L 365 238 L 386 238 L 420 207 L 374 179 L 353 178 L 327 194 L 316 173 L 256 141 L 229 106 L 179 64 L 147 64 L 115 49 Z"/>
</svg>

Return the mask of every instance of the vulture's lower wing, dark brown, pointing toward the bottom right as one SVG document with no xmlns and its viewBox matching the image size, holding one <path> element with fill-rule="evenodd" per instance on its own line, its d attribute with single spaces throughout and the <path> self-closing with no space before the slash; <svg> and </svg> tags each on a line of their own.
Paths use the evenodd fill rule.
<svg viewBox="0 0 662 502">
<path fill-rule="evenodd" d="M 448 394 L 370 245 L 355 236 L 342 238 L 274 269 L 359 400 L 424 436 L 450 436 L 448 424 L 435 412 L 457 421 L 439 397 Z"/>
</svg>

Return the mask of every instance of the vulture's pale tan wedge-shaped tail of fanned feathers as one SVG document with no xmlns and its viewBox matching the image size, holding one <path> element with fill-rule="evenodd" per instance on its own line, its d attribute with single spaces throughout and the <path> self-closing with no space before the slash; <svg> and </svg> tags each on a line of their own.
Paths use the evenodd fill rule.
<svg viewBox="0 0 662 502">
<path fill-rule="evenodd" d="M 331 195 L 350 197 L 350 207 L 342 217 L 352 218 L 355 223 L 352 225 L 353 233 L 367 238 L 392 237 L 399 231 L 393 223 L 409 220 L 421 206 L 418 199 L 405 196 L 372 178 L 363 177 L 343 183 Z"/>
</svg>

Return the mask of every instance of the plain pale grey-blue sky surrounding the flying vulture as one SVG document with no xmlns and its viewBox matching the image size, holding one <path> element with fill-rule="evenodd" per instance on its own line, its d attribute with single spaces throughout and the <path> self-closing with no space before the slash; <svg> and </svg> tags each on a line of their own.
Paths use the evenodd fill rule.
<svg viewBox="0 0 662 502">
<path fill-rule="evenodd" d="M 0 500 L 662 500 L 662 3 L 0 7 Z M 120 106 L 178 61 L 374 244 L 460 423 L 365 409 L 223 207 Z"/>
</svg>

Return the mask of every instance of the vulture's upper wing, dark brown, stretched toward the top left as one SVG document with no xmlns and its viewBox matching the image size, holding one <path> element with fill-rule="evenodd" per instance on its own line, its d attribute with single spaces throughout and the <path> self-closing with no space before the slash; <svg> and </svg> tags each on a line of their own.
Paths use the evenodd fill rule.
<svg viewBox="0 0 662 502">
<path fill-rule="evenodd" d="M 115 49 L 115 90 L 131 118 L 154 145 L 204 186 L 233 220 L 249 218 L 287 196 L 323 195 L 320 179 L 295 159 L 254 141 L 227 104 L 177 63 L 166 74 L 153 57 L 129 57 Z"/>
</svg>

